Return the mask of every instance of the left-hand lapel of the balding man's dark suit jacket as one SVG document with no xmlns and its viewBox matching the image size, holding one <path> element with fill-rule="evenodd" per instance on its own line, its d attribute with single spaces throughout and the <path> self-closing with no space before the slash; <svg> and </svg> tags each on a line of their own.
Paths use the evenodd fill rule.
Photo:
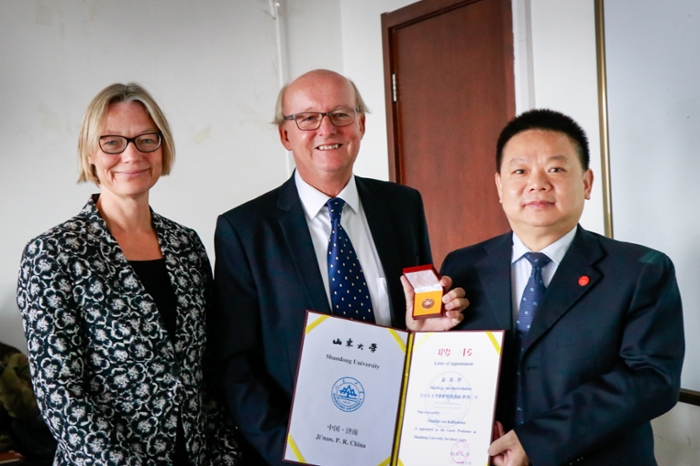
<svg viewBox="0 0 700 466">
<path fill-rule="evenodd" d="M 299 275 L 299 281 L 311 303 L 311 310 L 330 314 L 326 288 L 323 285 L 321 272 L 318 270 L 316 251 L 311 241 L 311 233 L 306 223 L 304 207 L 301 205 L 294 175 L 280 187 L 277 207 L 281 209 L 280 227 Z"/>
</svg>

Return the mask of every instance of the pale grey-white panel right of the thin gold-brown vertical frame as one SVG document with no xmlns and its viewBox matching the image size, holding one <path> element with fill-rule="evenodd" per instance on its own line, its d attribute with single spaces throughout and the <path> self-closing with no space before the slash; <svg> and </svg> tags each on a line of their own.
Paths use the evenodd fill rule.
<svg viewBox="0 0 700 466">
<path fill-rule="evenodd" d="M 688 215 L 700 202 L 700 62 L 688 59 L 700 56 L 700 2 L 639 1 L 633 15 L 626 6 L 605 8 L 615 237 L 673 260 L 685 309 L 682 385 L 700 391 L 700 215 Z"/>
</svg>

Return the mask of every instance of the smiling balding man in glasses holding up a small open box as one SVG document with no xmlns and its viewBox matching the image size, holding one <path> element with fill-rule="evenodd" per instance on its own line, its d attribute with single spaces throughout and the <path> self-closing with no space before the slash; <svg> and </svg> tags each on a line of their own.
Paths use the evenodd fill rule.
<svg viewBox="0 0 700 466">
<path fill-rule="evenodd" d="M 282 464 L 306 310 L 331 313 L 332 305 L 336 315 L 411 330 L 447 330 L 462 319 L 463 290 L 445 295 L 442 318 L 414 321 L 406 311 L 403 268 L 432 261 L 423 203 L 413 189 L 353 175 L 365 112 L 347 78 L 326 70 L 297 78 L 280 92 L 275 116 L 295 174 L 219 217 L 212 327 L 228 407 L 244 447 L 255 450 L 244 450 L 244 463 Z M 371 298 L 362 315 L 331 293 L 333 268 L 344 265 L 328 259 L 338 199 L 337 230 L 347 233 L 364 278 L 357 285 Z"/>
</svg>

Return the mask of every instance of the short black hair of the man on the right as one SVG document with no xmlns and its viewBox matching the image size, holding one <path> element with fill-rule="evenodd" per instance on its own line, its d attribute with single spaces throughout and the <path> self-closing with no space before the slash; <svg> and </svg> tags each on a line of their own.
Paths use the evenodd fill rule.
<svg viewBox="0 0 700 466">
<path fill-rule="evenodd" d="M 503 162 L 503 148 L 510 139 L 518 133 L 531 129 L 542 131 L 556 131 L 564 133 L 573 141 L 583 170 L 588 170 L 591 156 L 588 151 L 588 137 L 586 132 L 571 117 L 563 113 L 546 108 L 528 110 L 508 122 L 496 144 L 496 170 L 501 172 Z"/>
</svg>

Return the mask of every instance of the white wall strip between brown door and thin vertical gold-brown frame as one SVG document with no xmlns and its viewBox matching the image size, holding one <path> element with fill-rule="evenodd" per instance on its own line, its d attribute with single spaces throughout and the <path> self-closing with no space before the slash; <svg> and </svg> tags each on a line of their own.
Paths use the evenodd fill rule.
<svg viewBox="0 0 700 466">
<path fill-rule="evenodd" d="M 586 131 L 594 173 L 584 228 L 604 233 L 593 2 L 513 0 L 516 113 L 551 108 Z"/>
</svg>

